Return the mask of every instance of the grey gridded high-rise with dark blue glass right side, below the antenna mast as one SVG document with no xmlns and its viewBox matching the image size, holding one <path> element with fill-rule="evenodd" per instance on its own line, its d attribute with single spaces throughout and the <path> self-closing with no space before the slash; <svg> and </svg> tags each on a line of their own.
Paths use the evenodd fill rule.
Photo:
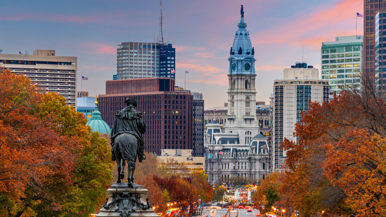
<svg viewBox="0 0 386 217">
<path fill-rule="evenodd" d="M 155 77 L 174 79 L 175 51 L 172 44 L 122 42 L 117 48 L 116 80 Z"/>
</svg>

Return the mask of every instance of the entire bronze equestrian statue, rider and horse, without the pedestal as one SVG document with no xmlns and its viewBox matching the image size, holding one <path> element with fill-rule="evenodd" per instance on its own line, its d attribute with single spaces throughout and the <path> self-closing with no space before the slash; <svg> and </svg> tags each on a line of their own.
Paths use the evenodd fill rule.
<svg viewBox="0 0 386 217">
<path fill-rule="evenodd" d="M 111 129 L 111 160 L 117 162 L 119 174 L 117 183 L 121 183 L 121 179 L 125 178 L 125 164 L 127 162 L 128 185 L 133 186 L 137 157 L 139 162 L 145 160 L 143 134 L 146 131 L 146 126 L 142 120 L 142 113 L 133 108 L 137 107 L 136 100 L 129 98 L 125 100 L 125 103 L 127 107 L 117 111 Z"/>
</svg>

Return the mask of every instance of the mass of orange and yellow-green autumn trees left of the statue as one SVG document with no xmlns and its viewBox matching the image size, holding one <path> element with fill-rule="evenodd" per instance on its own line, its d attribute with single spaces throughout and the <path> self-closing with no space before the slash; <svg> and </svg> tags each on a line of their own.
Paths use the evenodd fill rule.
<svg viewBox="0 0 386 217">
<path fill-rule="evenodd" d="M 111 180 L 106 141 L 56 93 L 0 69 L 0 213 L 88 216 Z"/>
</svg>

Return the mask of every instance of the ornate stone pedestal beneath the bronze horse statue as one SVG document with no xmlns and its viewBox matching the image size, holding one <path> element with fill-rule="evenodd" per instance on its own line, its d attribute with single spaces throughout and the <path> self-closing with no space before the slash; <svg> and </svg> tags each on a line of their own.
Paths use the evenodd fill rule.
<svg viewBox="0 0 386 217">
<path fill-rule="evenodd" d="M 107 194 L 97 217 L 158 217 L 148 202 L 145 186 L 116 183 L 107 189 Z"/>
</svg>

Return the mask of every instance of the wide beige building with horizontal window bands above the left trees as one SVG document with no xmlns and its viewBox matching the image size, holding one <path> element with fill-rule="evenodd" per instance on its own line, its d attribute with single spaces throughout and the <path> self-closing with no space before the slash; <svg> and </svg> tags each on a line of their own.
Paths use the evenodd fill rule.
<svg viewBox="0 0 386 217">
<path fill-rule="evenodd" d="M 76 106 L 77 57 L 55 56 L 55 50 L 34 50 L 33 55 L 0 54 L 0 63 L 24 74 L 43 91 L 56 92 Z"/>
</svg>

